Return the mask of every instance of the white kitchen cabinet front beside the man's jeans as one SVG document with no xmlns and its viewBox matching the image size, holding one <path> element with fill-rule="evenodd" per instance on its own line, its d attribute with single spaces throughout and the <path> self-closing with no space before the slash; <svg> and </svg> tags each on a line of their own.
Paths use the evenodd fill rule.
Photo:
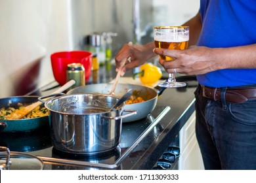
<svg viewBox="0 0 256 183">
<path fill-rule="evenodd" d="M 179 132 L 180 150 L 179 169 L 181 170 L 203 170 L 203 159 L 196 139 L 196 114 L 188 118 L 188 121 Z"/>
</svg>

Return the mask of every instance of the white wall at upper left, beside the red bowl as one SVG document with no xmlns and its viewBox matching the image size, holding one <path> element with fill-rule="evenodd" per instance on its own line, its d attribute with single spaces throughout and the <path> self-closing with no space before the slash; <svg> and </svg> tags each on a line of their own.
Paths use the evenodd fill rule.
<svg viewBox="0 0 256 183">
<path fill-rule="evenodd" d="M 0 1 L 0 97 L 53 80 L 49 54 L 71 45 L 67 2 Z"/>
</svg>

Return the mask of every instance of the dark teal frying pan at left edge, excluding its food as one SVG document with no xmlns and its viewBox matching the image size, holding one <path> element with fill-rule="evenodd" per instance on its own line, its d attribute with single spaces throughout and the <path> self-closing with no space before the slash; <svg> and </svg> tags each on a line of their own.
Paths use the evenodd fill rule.
<svg viewBox="0 0 256 183">
<path fill-rule="evenodd" d="M 0 99 L 0 108 L 17 107 L 18 103 L 30 104 L 38 101 L 37 96 L 16 96 Z M 44 104 L 41 105 L 43 107 Z M 49 125 L 49 116 L 40 118 L 20 119 L 20 120 L 0 120 L 1 132 L 27 132 L 33 131 L 43 125 Z"/>
</svg>

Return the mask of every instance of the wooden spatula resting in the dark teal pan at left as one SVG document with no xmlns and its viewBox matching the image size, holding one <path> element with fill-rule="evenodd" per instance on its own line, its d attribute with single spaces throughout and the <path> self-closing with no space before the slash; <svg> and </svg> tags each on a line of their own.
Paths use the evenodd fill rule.
<svg viewBox="0 0 256 183">
<path fill-rule="evenodd" d="M 70 80 L 69 82 L 67 82 L 62 87 L 58 88 L 57 90 L 55 90 L 51 94 L 63 92 L 65 90 L 67 90 L 68 88 L 70 88 L 70 86 L 72 86 L 73 84 L 75 84 L 75 80 Z M 28 113 L 30 113 L 35 107 L 37 107 L 37 106 L 39 106 L 41 104 L 42 104 L 41 101 L 37 101 L 36 103 L 32 103 L 31 105 L 28 105 L 28 106 L 26 106 L 24 108 L 16 110 L 15 112 L 12 112 L 11 114 L 5 116 L 5 118 L 7 120 L 18 120 L 18 119 L 21 119 L 24 116 L 26 116 Z"/>
</svg>

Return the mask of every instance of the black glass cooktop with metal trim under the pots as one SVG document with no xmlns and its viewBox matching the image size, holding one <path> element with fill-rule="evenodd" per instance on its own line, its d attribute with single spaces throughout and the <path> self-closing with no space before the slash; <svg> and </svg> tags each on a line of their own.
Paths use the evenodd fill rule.
<svg viewBox="0 0 256 183">
<path fill-rule="evenodd" d="M 159 122 L 169 110 L 170 107 L 157 105 L 147 118 L 123 123 L 119 146 L 101 154 L 70 154 L 57 150 L 51 144 L 49 125 L 29 133 L 0 133 L 0 145 L 43 159 L 44 169 L 123 169 L 124 161 L 125 165 L 133 163 L 133 158 L 150 146 L 145 142 L 141 145 L 142 140 L 158 137 L 162 131 Z"/>
</svg>

